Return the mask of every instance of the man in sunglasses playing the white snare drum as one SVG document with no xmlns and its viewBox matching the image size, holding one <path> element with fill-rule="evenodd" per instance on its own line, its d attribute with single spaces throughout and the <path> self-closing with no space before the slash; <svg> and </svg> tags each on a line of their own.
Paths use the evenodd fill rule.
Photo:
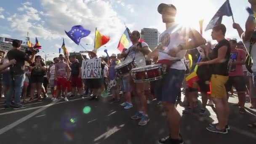
<svg viewBox="0 0 256 144">
<path fill-rule="evenodd" d="M 122 57 L 129 56 L 130 58 L 136 61 L 136 67 L 146 66 L 145 55 L 151 52 L 147 43 L 139 43 L 141 38 L 141 34 L 138 31 L 133 31 L 131 33 L 131 42 L 132 46 L 128 48 L 125 53 L 122 54 Z M 130 85 L 131 91 L 136 96 L 136 102 L 138 105 L 138 112 L 131 117 L 133 120 L 139 120 L 139 125 L 147 125 L 149 122 L 149 117 L 147 115 L 147 99 L 144 93 L 144 90 L 149 87 L 149 83 L 134 83 L 131 75 L 130 77 Z"/>
</svg>

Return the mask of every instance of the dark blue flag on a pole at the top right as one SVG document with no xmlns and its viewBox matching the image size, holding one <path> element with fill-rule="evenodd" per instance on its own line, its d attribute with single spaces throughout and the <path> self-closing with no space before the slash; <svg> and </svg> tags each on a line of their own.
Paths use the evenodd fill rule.
<svg viewBox="0 0 256 144">
<path fill-rule="evenodd" d="M 226 0 L 226 2 L 221 6 L 221 8 L 219 8 L 217 13 L 213 16 L 213 18 L 205 28 L 205 31 L 208 29 L 212 29 L 218 24 L 221 24 L 223 16 L 233 16 L 229 0 Z"/>
</svg>

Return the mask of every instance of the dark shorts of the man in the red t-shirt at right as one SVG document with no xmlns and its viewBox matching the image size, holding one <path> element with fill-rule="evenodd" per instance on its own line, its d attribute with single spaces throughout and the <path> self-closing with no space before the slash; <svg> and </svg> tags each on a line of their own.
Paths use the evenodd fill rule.
<svg viewBox="0 0 256 144">
<path fill-rule="evenodd" d="M 229 77 L 229 80 L 225 85 L 226 91 L 227 92 L 231 91 L 232 86 L 235 87 L 237 92 L 245 92 L 246 91 L 245 77 L 244 76 Z"/>
</svg>

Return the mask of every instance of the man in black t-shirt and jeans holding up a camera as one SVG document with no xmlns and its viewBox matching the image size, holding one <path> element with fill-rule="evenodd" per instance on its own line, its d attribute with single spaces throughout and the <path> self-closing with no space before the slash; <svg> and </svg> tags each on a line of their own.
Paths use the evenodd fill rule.
<svg viewBox="0 0 256 144">
<path fill-rule="evenodd" d="M 8 89 L 7 96 L 6 96 L 6 104 L 5 109 L 13 107 L 13 109 L 22 109 L 25 106 L 21 105 L 21 91 L 23 88 L 23 83 L 25 80 L 25 72 L 24 72 L 24 65 L 25 61 L 32 64 L 35 60 L 35 52 L 32 53 L 31 58 L 29 56 L 20 51 L 21 48 L 21 41 L 13 40 L 13 48 L 8 51 L 7 57 L 9 60 L 15 59 L 16 64 L 13 64 L 10 67 L 11 78 L 9 79 L 10 88 Z M 14 92 L 14 105 L 11 105 L 12 97 Z"/>
</svg>

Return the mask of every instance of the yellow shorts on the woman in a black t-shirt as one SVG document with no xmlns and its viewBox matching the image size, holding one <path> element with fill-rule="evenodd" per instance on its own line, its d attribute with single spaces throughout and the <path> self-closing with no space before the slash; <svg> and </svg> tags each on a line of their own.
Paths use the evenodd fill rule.
<svg viewBox="0 0 256 144">
<path fill-rule="evenodd" d="M 224 98 L 227 97 L 225 84 L 229 79 L 224 75 L 211 75 L 211 97 L 212 98 Z"/>
</svg>

